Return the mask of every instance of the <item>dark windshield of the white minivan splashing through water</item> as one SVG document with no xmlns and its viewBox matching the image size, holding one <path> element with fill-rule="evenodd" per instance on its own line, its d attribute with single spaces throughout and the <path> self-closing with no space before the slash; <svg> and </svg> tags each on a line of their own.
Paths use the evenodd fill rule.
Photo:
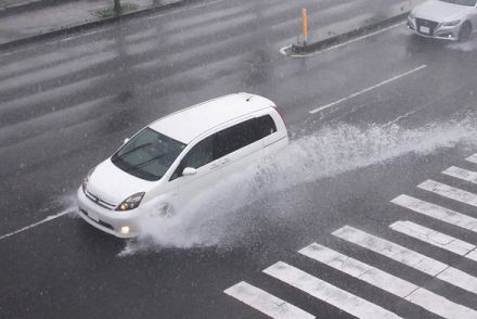
<svg viewBox="0 0 477 319">
<path fill-rule="evenodd" d="M 126 173 L 145 180 L 159 180 L 185 144 L 145 128 L 111 158 Z"/>
</svg>

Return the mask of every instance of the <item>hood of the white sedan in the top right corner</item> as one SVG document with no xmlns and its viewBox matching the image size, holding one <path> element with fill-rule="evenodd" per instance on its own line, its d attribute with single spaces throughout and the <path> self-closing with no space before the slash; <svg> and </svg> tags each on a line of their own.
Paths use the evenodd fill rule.
<svg viewBox="0 0 477 319">
<path fill-rule="evenodd" d="M 435 22 L 444 22 L 461 18 L 472 11 L 473 7 L 452 4 L 448 2 L 430 0 L 414 9 L 416 17 Z"/>
</svg>

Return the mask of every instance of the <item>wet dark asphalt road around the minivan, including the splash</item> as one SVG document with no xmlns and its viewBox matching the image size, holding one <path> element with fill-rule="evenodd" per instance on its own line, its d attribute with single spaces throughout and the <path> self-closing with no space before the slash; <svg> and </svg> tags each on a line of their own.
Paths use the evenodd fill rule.
<svg viewBox="0 0 477 319">
<path fill-rule="evenodd" d="M 326 24 L 364 14 L 370 2 L 307 8 Z M 405 193 L 477 217 L 476 207 L 416 188 L 434 179 L 477 193 L 441 174 L 477 170 L 465 161 L 477 150 L 477 39 L 422 41 L 399 25 L 285 58 L 279 49 L 295 39 L 298 10 L 289 1 L 203 2 L 0 52 L 2 318 L 266 318 L 223 293 L 243 280 L 318 318 L 353 318 L 262 272 L 279 260 L 400 317 L 439 318 L 297 253 L 312 242 L 477 310 L 476 294 L 331 234 L 349 225 L 477 277 L 475 261 L 388 227 L 413 220 L 477 242 L 475 232 L 390 203 Z M 82 177 L 125 138 L 237 91 L 284 111 L 292 144 L 272 182 L 254 188 L 248 174 L 225 181 L 155 242 L 117 240 L 74 213 L 57 217 L 76 209 Z M 3 237 L 48 216 L 57 218 Z"/>
</svg>

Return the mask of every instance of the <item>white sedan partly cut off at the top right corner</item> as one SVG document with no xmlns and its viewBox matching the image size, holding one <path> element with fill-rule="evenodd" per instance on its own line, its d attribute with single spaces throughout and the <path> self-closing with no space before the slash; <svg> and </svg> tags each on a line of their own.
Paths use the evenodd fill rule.
<svg viewBox="0 0 477 319">
<path fill-rule="evenodd" d="M 408 16 L 408 28 L 422 36 L 466 40 L 477 30 L 477 0 L 429 0 Z"/>
</svg>

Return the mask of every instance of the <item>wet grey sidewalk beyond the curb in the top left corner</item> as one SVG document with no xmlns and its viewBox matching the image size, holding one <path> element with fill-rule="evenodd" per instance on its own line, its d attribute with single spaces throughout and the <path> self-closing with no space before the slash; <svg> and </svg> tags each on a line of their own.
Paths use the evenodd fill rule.
<svg viewBox="0 0 477 319">
<path fill-rule="evenodd" d="M 193 0 L 121 0 L 121 4 L 138 5 L 138 10 L 123 16 L 134 16 L 190 1 Z M 101 18 L 93 14 L 112 7 L 113 0 L 77 0 L 35 10 L 25 7 L 21 12 L 0 17 L 0 49 L 112 22 L 114 17 Z"/>
</svg>

